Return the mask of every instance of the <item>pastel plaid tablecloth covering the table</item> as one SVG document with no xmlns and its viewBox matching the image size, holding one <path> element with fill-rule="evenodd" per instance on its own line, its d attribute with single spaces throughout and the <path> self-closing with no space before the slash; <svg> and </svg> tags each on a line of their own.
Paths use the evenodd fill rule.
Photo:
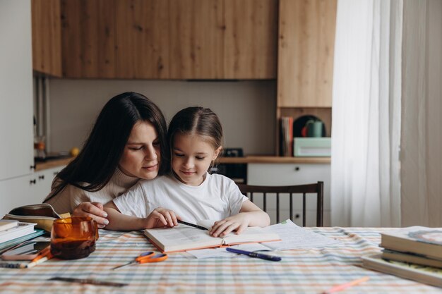
<svg viewBox="0 0 442 294">
<path fill-rule="evenodd" d="M 380 252 L 386 228 L 309 228 L 342 241 L 318 249 L 278 252 L 281 262 L 247 256 L 190 259 L 169 254 L 165 262 L 112 271 L 153 246 L 140 232 L 100 230 L 97 249 L 84 259 L 51 259 L 32 269 L 0 268 L 0 293 L 321 293 L 362 276 L 370 280 L 344 293 L 442 293 L 426 286 L 361 267 L 360 257 Z M 97 278 L 129 283 L 121 288 L 63 281 L 54 276 Z"/>
</svg>

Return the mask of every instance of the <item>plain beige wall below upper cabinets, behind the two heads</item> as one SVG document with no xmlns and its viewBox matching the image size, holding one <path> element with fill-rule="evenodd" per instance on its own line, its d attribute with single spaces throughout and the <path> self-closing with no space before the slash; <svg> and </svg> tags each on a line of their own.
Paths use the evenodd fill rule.
<svg viewBox="0 0 442 294">
<path fill-rule="evenodd" d="M 167 122 L 186 106 L 209 107 L 220 117 L 224 147 L 273 154 L 275 81 L 187 82 L 159 80 L 49 81 L 49 151 L 82 146 L 102 106 L 116 94 L 139 92 L 162 109 Z"/>
</svg>

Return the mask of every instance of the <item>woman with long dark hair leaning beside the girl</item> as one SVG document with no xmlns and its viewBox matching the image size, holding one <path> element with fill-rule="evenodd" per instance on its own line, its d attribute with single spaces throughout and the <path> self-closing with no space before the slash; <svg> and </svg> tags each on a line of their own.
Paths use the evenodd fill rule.
<svg viewBox="0 0 442 294">
<path fill-rule="evenodd" d="M 142 94 L 125 92 L 104 105 L 80 154 L 54 179 L 44 202 L 56 212 L 109 223 L 103 205 L 169 166 L 167 126 Z"/>
</svg>

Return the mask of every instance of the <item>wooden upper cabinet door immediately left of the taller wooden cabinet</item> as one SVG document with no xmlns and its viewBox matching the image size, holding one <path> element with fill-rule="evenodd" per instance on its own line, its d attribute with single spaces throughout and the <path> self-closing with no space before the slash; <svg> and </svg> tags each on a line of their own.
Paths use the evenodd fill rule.
<svg viewBox="0 0 442 294">
<path fill-rule="evenodd" d="M 277 4 L 225 0 L 224 78 L 276 78 Z"/>
</svg>

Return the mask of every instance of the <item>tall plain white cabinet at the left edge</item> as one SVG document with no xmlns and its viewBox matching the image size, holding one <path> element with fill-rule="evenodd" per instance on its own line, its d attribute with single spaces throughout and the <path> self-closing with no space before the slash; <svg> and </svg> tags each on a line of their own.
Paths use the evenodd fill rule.
<svg viewBox="0 0 442 294">
<path fill-rule="evenodd" d="M 0 180 L 33 171 L 30 1 L 0 9 Z M 6 195 L 0 194 L 0 203 Z"/>
</svg>

